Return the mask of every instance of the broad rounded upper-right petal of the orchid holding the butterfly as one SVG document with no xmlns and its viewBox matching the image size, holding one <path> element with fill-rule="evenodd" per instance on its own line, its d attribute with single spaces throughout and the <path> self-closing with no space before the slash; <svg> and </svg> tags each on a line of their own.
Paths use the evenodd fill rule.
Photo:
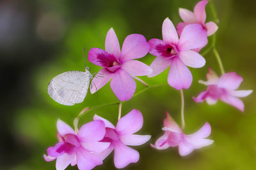
<svg viewBox="0 0 256 170">
<path fill-rule="evenodd" d="M 141 34 L 130 34 L 124 40 L 121 59 L 122 62 L 132 59 L 140 59 L 147 55 L 149 45 L 145 37 Z"/>
</svg>

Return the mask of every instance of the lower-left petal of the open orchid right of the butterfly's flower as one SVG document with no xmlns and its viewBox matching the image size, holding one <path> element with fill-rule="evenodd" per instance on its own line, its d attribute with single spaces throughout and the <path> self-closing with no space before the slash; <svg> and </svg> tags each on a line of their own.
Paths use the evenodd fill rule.
<svg viewBox="0 0 256 170">
<path fill-rule="evenodd" d="M 164 57 L 156 57 L 156 59 L 150 64 L 150 67 L 153 69 L 153 72 L 148 75 L 148 77 L 154 77 L 157 74 L 162 73 L 171 65 L 170 59 Z"/>
</svg>

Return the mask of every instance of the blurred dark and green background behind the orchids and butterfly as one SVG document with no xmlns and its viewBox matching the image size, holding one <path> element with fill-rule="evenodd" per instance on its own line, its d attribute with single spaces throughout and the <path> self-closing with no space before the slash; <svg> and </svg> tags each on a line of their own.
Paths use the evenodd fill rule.
<svg viewBox="0 0 256 170">
<path fill-rule="evenodd" d="M 243 76 L 241 90 L 255 89 L 256 13 L 255 1 L 213 1 L 220 18 L 216 34 L 226 72 Z M 65 71 L 84 71 L 83 50 L 104 49 L 110 27 L 120 43 L 128 34 L 143 34 L 147 40 L 161 38 L 164 18 L 180 22 L 179 7 L 193 10 L 197 1 L 126 0 L 68 1 L 28 0 L 0 2 L 1 59 L 1 155 L 0 169 L 55 169 L 55 161 L 45 162 L 42 155 L 56 143 L 56 120 L 72 125 L 73 119 L 86 106 L 117 101 L 109 83 L 95 94 L 86 96 L 81 104 L 62 106 L 47 94 L 47 85 Z M 207 20 L 212 16 L 207 5 Z M 185 95 L 185 133 L 197 131 L 205 122 L 212 127 L 214 144 L 180 157 L 177 148 L 158 151 L 149 146 L 162 135 L 164 112 L 168 111 L 180 124 L 180 94 L 171 87 L 151 89 L 123 105 L 122 114 L 136 108 L 143 113 L 140 134 L 152 134 L 150 142 L 134 147 L 140 161 L 125 169 L 256 169 L 256 101 L 255 92 L 243 99 L 245 111 L 221 103 L 208 106 L 196 104 L 192 96 L 205 90 L 198 80 L 205 80 L 207 67 L 220 74 L 212 53 L 204 56 L 206 66 L 191 69 L 193 84 Z M 141 61 L 150 64 L 154 56 Z M 100 67 L 86 64 L 92 72 Z M 154 85 L 166 83 L 168 70 L 154 78 L 141 77 Z M 145 87 L 137 81 L 137 89 Z M 94 110 L 80 120 L 80 125 L 97 113 L 116 124 L 118 106 Z M 68 167 L 67 169 L 77 169 Z M 115 169 L 113 154 L 104 165 L 95 169 Z"/>
</svg>

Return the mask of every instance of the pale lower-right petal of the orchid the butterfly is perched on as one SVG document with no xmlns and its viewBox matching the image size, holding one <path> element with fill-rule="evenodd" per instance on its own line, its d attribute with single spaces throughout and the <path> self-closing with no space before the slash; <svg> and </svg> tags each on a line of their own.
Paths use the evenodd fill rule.
<svg viewBox="0 0 256 170">
<path fill-rule="evenodd" d="M 147 76 L 152 73 L 152 69 L 147 64 L 138 60 L 128 60 L 121 67 L 131 76 Z"/>
</svg>

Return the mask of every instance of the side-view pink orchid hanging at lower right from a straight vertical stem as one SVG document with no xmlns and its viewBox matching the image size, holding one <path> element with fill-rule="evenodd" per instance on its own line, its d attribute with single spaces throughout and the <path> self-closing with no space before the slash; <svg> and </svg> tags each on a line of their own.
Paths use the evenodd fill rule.
<svg viewBox="0 0 256 170">
<path fill-rule="evenodd" d="M 211 145 L 213 140 L 205 139 L 211 134 L 211 126 L 205 123 L 199 131 L 186 135 L 180 129 L 179 125 L 166 112 L 163 127 L 164 135 L 156 141 L 156 145 L 151 145 L 157 150 L 165 150 L 166 148 L 179 146 L 179 154 L 181 156 L 189 155 L 195 149 Z"/>
</svg>

